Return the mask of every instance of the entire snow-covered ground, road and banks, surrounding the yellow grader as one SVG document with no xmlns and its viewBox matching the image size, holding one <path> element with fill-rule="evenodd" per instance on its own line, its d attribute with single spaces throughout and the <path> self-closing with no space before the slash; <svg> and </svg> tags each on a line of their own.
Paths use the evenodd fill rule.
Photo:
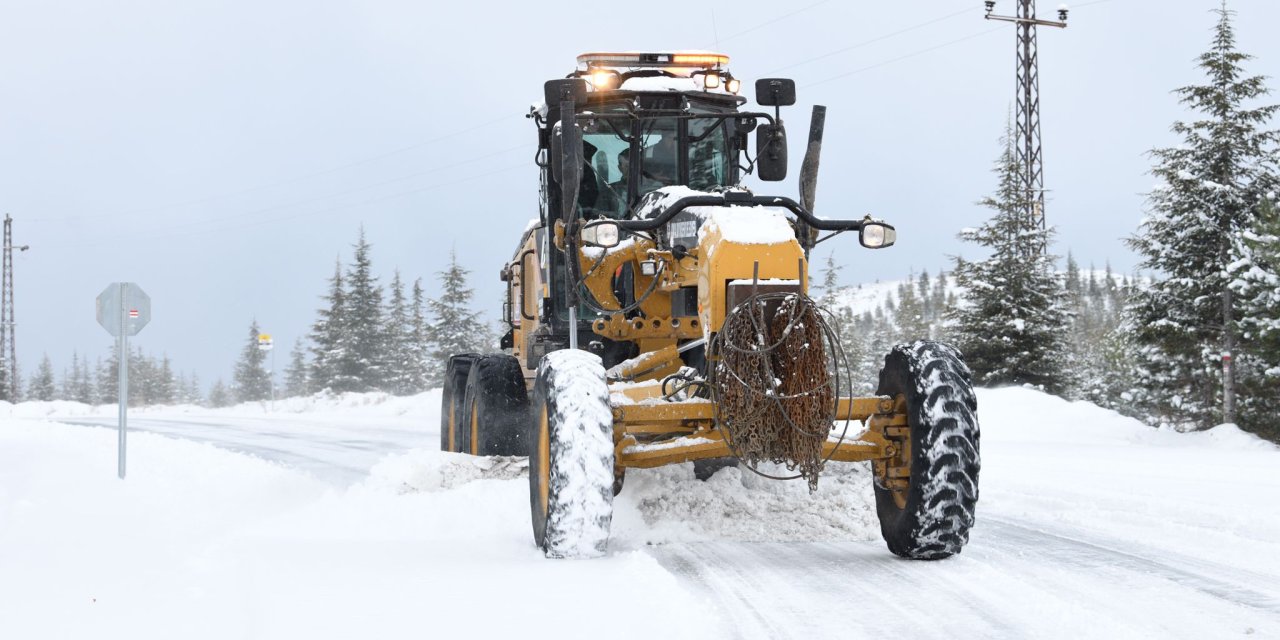
<svg viewBox="0 0 1280 640">
<path fill-rule="evenodd" d="M 109 407 L 15 407 L 0 637 L 1280 637 L 1280 448 L 1233 428 L 980 390 L 978 525 L 955 558 L 891 556 L 863 466 L 809 495 L 686 465 L 628 474 L 611 557 L 550 562 L 522 461 L 433 451 L 438 402 L 136 412 L 288 467 L 137 433 L 125 483 L 111 431 L 50 421 Z"/>
</svg>

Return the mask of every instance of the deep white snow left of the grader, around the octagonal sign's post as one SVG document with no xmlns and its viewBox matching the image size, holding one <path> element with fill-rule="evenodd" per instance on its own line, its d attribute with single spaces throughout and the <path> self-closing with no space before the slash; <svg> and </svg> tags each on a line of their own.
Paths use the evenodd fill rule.
<svg viewBox="0 0 1280 640">
<path fill-rule="evenodd" d="M 113 431 L 3 420 L 0 637 L 714 636 L 705 602 L 644 553 L 543 558 L 521 463 L 486 480 L 433 453 L 335 490 L 134 433 L 120 481 Z M 397 465 L 428 490 L 380 484 Z M 618 607 L 663 616 L 620 626 Z"/>
</svg>

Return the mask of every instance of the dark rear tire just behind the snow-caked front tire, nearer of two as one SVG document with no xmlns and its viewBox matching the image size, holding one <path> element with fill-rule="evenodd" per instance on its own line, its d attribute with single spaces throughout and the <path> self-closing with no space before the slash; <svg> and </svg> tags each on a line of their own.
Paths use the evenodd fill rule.
<svg viewBox="0 0 1280 640">
<path fill-rule="evenodd" d="M 467 375 L 463 406 L 460 424 L 467 430 L 467 453 L 529 454 L 529 392 L 518 360 L 507 355 L 477 358 Z"/>
</svg>

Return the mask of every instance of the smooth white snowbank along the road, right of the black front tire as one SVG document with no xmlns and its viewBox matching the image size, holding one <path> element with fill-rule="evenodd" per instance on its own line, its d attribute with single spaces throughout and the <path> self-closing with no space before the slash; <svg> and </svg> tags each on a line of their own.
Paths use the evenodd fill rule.
<svg viewBox="0 0 1280 640">
<path fill-rule="evenodd" d="M 1222 425 L 1181 434 L 1032 389 L 979 389 L 982 518 L 1140 540 L 1280 575 L 1280 447 Z"/>
</svg>

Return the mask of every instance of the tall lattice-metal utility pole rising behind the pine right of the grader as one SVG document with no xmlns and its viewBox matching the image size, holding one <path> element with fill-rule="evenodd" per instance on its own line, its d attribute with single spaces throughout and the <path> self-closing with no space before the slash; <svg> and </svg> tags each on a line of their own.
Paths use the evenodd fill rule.
<svg viewBox="0 0 1280 640">
<path fill-rule="evenodd" d="M 1057 8 L 1057 20 L 1036 17 L 1036 0 L 1018 0 L 1018 15 L 995 15 L 995 0 L 986 0 L 987 19 L 1011 22 L 1018 29 L 1018 124 L 1014 128 L 1014 148 L 1021 166 L 1019 182 L 1027 193 L 1024 201 L 1025 229 L 1043 232 L 1044 224 L 1044 154 L 1039 136 L 1039 51 L 1036 45 L 1036 27 L 1066 28 L 1066 5 Z M 1043 255 L 1043 234 L 1033 251 Z"/>
</svg>

